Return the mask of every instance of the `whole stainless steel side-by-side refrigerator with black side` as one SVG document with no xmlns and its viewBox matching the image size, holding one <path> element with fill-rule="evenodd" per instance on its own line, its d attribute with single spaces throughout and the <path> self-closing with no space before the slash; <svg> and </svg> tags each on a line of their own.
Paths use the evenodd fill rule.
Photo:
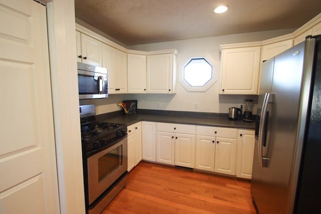
<svg viewBox="0 0 321 214">
<path fill-rule="evenodd" d="M 259 214 L 321 213 L 321 37 L 262 64 L 251 180 Z"/>
</svg>

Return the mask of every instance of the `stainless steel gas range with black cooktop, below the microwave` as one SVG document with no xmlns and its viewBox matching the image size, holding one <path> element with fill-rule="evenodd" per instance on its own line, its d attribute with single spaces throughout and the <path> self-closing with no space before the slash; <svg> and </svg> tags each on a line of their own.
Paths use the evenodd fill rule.
<svg viewBox="0 0 321 214">
<path fill-rule="evenodd" d="M 127 182 L 127 127 L 96 121 L 95 106 L 80 109 L 86 213 L 100 213 Z"/>
</svg>

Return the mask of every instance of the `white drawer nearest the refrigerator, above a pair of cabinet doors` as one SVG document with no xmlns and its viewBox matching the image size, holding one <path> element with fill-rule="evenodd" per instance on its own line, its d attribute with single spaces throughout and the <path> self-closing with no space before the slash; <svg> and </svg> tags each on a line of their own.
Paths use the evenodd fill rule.
<svg viewBox="0 0 321 214">
<path fill-rule="evenodd" d="M 215 133 L 216 132 L 216 133 Z M 197 126 L 197 135 L 237 138 L 237 129 L 214 126 Z"/>
</svg>

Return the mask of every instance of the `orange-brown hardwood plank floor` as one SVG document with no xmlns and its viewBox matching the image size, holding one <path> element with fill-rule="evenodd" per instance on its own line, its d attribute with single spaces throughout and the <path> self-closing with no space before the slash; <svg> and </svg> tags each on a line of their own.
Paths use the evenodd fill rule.
<svg viewBox="0 0 321 214">
<path fill-rule="evenodd" d="M 140 162 L 108 213 L 255 213 L 250 182 Z"/>
</svg>

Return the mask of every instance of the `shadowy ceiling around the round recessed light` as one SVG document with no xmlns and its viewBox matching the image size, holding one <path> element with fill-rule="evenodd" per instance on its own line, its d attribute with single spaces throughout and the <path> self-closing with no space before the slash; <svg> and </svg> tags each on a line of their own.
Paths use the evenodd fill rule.
<svg viewBox="0 0 321 214">
<path fill-rule="evenodd" d="M 221 4 L 224 14 L 214 14 Z M 75 0 L 76 17 L 125 45 L 299 28 L 321 0 Z"/>
</svg>

